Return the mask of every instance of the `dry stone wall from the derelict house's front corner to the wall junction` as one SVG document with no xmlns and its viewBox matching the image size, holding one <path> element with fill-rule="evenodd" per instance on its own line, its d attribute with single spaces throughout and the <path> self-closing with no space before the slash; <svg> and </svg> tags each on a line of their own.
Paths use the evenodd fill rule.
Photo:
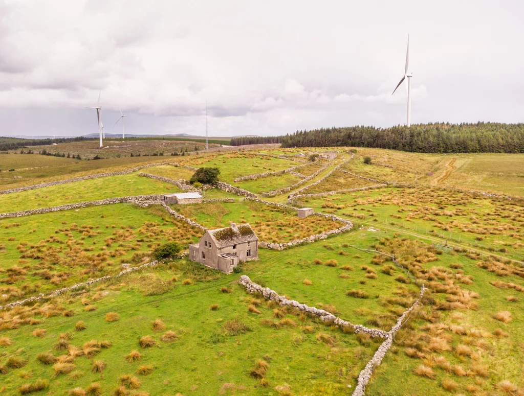
<svg viewBox="0 0 524 396">
<path fill-rule="evenodd" d="M 253 282 L 247 275 L 242 275 L 238 284 L 243 286 L 249 293 L 260 293 L 265 298 L 273 301 L 277 301 L 281 307 L 290 306 L 298 309 L 299 311 L 304 311 L 309 313 L 312 316 L 318 316 L 323 322 L 334 323 L 337 326 L 341 327 L 351 327 L 355 333 L 367 333 L 373 338 L 386 338 L 388 332 L 379 329 L 369 329 L 360 324 L 353 324 L 337 318 L 331 312 L 325 311 L 323 309 L 318 309 L 315 307 L 308 307 L 305 304 L 301 304 L 295 300 L 289 300 L 286 296 L 279 296 L 278 293 L 274 290 L 271 290 L 268 287 L 262 287 Z"/>
</svg>

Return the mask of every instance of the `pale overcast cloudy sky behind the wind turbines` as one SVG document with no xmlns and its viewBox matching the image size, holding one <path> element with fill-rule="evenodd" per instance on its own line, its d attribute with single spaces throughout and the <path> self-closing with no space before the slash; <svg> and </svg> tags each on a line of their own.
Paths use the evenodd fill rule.
<svg viewBox="0 0 524 396">
<path fill-rule="evenodd" d="M 524 2 L 0 0 L 0 135 L 523 122 Z"/>
</svg>

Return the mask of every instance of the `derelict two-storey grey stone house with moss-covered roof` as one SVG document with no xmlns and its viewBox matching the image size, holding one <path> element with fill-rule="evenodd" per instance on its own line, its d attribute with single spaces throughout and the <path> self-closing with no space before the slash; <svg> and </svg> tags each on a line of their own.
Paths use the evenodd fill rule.
<svg viewBox="0 0 524 396">
<path fill-rule="evenodd" d="M 189 258 L 230 274 L 238 262 L 258 259 L 258 237 L 249 224 L 231 223 L 206 231 L 199 243 L 189 245 Z"/>
</svg>

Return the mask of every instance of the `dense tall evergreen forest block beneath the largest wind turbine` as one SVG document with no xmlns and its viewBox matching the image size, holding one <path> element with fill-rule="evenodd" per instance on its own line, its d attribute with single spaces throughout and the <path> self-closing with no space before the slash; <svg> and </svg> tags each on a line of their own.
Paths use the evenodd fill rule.
<svg viewBox="0 0 524 396">
<path fill-rule="evenodd" d="M 524 124 L 477 122 L 385 129 L 322 128 L 297 131 L 280 137 L 280 142 L 285 148 L 353 146 L 419 153 L 524 153 Z"/>
</svg>

